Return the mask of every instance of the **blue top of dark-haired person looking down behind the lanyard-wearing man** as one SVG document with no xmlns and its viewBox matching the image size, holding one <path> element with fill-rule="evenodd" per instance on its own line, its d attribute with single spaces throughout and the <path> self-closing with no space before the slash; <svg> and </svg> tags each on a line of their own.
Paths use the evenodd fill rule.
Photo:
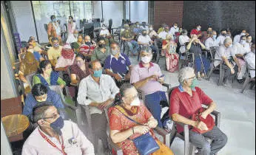
<svg viewBox="0 0 256 155">
<path fill-rule="evenodd" d="M 48 89 L 48 92 L 47 92 L 47 101 L 53 103 L 53 106 L 55 106 L 56 108 L 64 108 L 64 105 L 61 102 L 61 97 L 56 92 L 50 89 Z M 22 114 L 31 118 L 31 115 L 33 113 L 33 108 L 38 103 L 39 102 L 35 99 L 35 97 L 33 97 L 31 93 L 27 94 L 27 98 L 25 100 L 25 105 L 24 105 Z"/>
</svg>

